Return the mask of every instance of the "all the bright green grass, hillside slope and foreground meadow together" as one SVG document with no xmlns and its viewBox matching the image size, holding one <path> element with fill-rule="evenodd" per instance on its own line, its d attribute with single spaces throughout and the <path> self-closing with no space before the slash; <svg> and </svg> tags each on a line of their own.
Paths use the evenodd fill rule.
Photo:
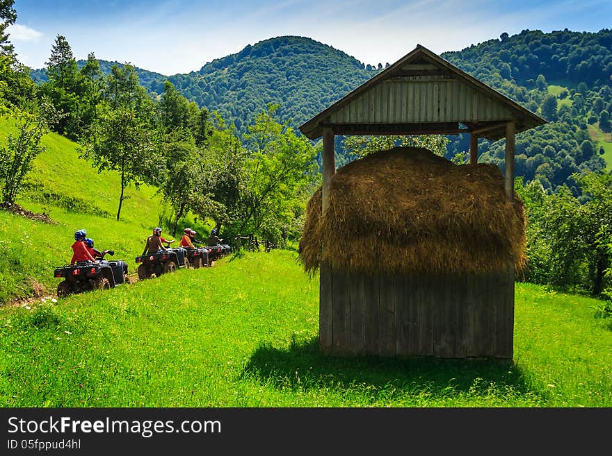
<svg viewBox="0 0 612 456">
<path fill-rule="evenodd" d="M 13 130 L 0 119 L 0 137 Z M 58 300 L 53 271 L 75 230 L 134 275 L 166 208 L 152 187 L 131 187 L 116 221 L 117 175 L 97 174 L 63 137 L 44 141 L 17 203 L 53 223 L 0 211 L 1 407 L 612 406 L 601 301 L 536 285 L 516 285 L 510 365 L 323 355 L 319 280 L 294 250 Z"/>
</svg>

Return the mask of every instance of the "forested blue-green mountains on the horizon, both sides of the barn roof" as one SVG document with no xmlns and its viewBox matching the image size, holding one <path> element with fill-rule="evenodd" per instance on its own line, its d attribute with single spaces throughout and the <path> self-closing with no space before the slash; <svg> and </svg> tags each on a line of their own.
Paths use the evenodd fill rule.
<svg viewBox="0 0 612 456">
<path fill-rule="evenodd" d="M 524 176 L 525 182 L 538 178 L 551 191 L 568 183 L 577 195 L 575 183 L 567 182 L 572 173 L 606 167 L 604 146 L 611 143 L 598 142 L 595 136 L 605 138 L 610 132 L 611 49 L 608 29 L 598 33 L 525 30 L 513 36 L 502 33 L 499 39 L 442 53 L 442 57 L 551 122 L 517 137 L 517 176 Z M 85 62 L 79 61 L 79 66 Z M 117 64 L 99 62 L 105 74 Z M 168 76 L 168 80 L 186 99 L 220 112 L 245 133 L 268 103 L 278 103 L 278 118 L 297 127 L 382 68 L 380 63 L 364 65 L 307 37 L 283 36 L 248 45 L 199 71 Z M 136 69 L 136 74 L 149 92 L 163 92 L 166 76 L 143 69 Z M 34 71 L 33 77 L 41 81 L 44 70 Z M 469 148 L 467 135 L 449 136 L 449 140 L 448 158 Z M 503 169 L 503 141 L 481 140 L 479 150 L 481 161 Z"/>
</svg>

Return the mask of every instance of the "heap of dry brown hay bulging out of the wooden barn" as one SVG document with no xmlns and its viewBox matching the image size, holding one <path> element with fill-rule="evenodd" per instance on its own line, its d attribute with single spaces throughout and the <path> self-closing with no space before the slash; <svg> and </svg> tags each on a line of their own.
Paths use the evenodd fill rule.
<svg viewBox="0 0 612 456">
<path fill-rule="evenodd" d="M 522 201 L 510 203 L 494 164 L 463 164 L 400 147 L 337 170 L 321 217 L 307 205 L 300 259 L 352 271 L 486 273 L 525 262 Z"/>
</svg>

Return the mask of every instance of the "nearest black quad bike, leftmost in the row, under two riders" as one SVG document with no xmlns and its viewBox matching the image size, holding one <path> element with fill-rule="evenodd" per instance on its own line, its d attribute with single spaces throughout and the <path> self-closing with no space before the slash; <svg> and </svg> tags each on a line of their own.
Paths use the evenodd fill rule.
<svg viewBox="0 0 612 456">
<path fill-rule="evenodd" d="M 114 255 L 113 251 L 106 251 Z M 57 288 L 58 298 L 79 294 L 93 289 L 111 289 L 129 283 L 127 263 L 122 260 L 79 261 L 65 264 L 54 271 L 54 276 L 63 278 Z"/>
</svg>

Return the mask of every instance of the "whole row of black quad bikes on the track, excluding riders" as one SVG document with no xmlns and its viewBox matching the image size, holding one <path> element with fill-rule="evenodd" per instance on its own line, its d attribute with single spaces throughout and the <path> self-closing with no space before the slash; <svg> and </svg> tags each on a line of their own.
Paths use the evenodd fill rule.
<svg viewBox="0 0 612 456">
<path fill-rule="evenodd" d="M 159 277 L 176 269 L 211 267 L 212 262 L 230 253 L 227 244 L 196 248 L 170 248 L 175 241 L 166 242 L 166 250 L 154 254 L 138 255 L 138 279 Z M 106 251 L 114 255 L 114 251 Z M 129 283 L 127 263 L 123 260 L 98 260 L 98 262 L 76 262 L 65 264 L 54 271 L 54 276 L 63 278 L 57 288 L 58 298 L 79 294 L 94 289 L 111 289 Z"/>
</svg>

